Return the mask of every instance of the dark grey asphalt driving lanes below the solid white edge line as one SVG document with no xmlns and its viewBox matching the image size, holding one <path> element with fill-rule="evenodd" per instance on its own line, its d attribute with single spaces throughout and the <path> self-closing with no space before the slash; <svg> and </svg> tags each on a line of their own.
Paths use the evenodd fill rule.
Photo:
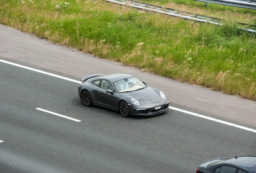
<svg viewBox="0 0 256 173">
<path fill-rule="evenodd" d="M 256 155 L 254 132 L 171 109 L 159 116 L 124 118 L 116 111 L 85 107 L 75 82 L 2 62 L 0 79 L 0 172 L 194 173 L 207 159 Z"/>
</svg>

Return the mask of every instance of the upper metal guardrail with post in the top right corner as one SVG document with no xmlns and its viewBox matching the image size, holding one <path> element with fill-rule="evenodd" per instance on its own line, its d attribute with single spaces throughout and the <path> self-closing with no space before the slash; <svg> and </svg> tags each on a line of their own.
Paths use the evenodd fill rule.
<svg viewBox="0 0 256 173">
<path fill-rule="evenodd" d="M 256 10 L 256 1 L 254 0 L 195 0 L 195 1 L 207 2 L 207 7 L 208 7 L 208 3 L 213 3 L 213 4 L 220 4 L 220 5 Z"/>
</svg>

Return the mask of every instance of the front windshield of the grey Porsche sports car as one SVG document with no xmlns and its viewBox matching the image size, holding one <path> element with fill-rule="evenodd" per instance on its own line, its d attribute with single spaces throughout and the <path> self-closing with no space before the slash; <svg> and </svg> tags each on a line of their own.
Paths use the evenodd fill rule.
<svg viewBox="0 0 256 173">
<path fill-rule="evenodd" d="M 118 80 L 114 82 L 114 86 L 119 93 L 136 91 L 146 87 L 146 85 L 136 77 Z"/>
</svg>

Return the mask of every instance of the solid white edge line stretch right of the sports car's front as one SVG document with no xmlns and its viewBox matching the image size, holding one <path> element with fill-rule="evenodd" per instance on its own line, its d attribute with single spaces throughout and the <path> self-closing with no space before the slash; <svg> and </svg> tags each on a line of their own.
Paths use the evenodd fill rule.
<svg viewBox="0 0 256 173">
<path fill-rule="evenodd" d="M 214 119 L 214 118 L 211 118 L 211 117 L 207 117 L 207 116 L 200 115 L 200 114 L 197 114 L 197 113 L 192 113 L 192 112 L 185 111 L 185 110 L 178 109 L 178 108 L 171 107 L 171 106 L 169 106 L 169 109 L 173 109 L 173 110 L 175 110 L 175 111 L 180 111 L 180 112 L 183 112 L 183 113 L 187 113 L 187 114 L 190 114 L 190 115 L 194 115 L 194 116 L 196 116 L 196 117 L 201 117 L 201 118 L 204 118 L 204 119 L 208 119 L 208 120 L 211 120 L 211 121 L 215 121 L 215 122 L 218 122 L 218 123 L 222 123 L 222 124 L 225 124 L 225 125 L 237 127 L 237 128 L 240 128 L 240 129 L 244 129 L 244 130 L 252 131 L 252 132 L 256 133 L 256 130 L 250 129 L 250 128 L 248 128 L 248 127 L 244 127 L 244 126 L 236 125 L 236 124 L 229 123 L 229 122 L 226 122 L 226 121 Z"/>
</svg>

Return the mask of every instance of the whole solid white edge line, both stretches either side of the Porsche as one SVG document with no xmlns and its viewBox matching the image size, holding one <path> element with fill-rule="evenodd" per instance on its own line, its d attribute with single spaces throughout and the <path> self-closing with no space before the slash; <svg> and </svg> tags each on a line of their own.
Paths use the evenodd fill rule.
<svg viewBox="0 0 256 173">
<path fill-rule="evenodd" d="M 5 61 L 5 60 L 1 60 L 0 59 L 0 62 L 4 62 L 4 63 L 7 63 L 7 64 L 11 64 L 11 65 L 14 65 L 14 66 L 19 66 L 19 67 L 22 67 L 22 68 L 26 68 L 26 69 L 29 69 L 29 70 L 33 70 L 35 72 L 40 72 L 40 73 L 43 73 L 43 74 L 47 74 L 47 75 L 50 75 L 50 76 L 54 76 L 54 77 L 57 77 L 57 78 L 62 78 L 64 80 L 69 80 L 69 81 L 72 81 L 72 82 L 76 82 L 76 83 L 81 83 L 80 81 L 78 80 L 73 80 L 73 79 L 70 79 L 70 78 L 66 78 L 66 77 L 63 77 L 63 76 L 59 76 L 59 75 L 56 75 L 56 74 L 52 74 L 52 73 L 48 73 L 48 72 L 44 72 L 44 71 L 41 71 L 41 70 L 37 70 L 35 68 L 30 68 L 30 67 L 26 67 L 26 66 L 23 66 L 23 65 L 20 65 L 20 64 L 15 64 L 13 62 L 8 62 L 8 61 Z M 39 108 L 40 109 L 40 108 Z M 218 120 L 218 119 L 214 119 L 214 118 L 211 118 L 211 117 L 207 117 L 207 116 L 204 116 L 204 115 L 199 115 L 197 113 L 192 113 L 190 111 L 185 111 L 185 110 L 182 110 L 182 109 L 179 109 L 179 108 L 175 108 L 175 107 L 171 107 L 169 106 L 169 109 L 173 109 L 175 111 L 180 111 L 180 112 L 183 112 L 183 113 L 187 113 L 187 114 L 190 114 L 190 115 L 194 115 L 196 117 L 201 117 L 201 118 L 204 118 L 204 119 L 208 119 L 208 120 L 211 120 L 211 121 L 216 121 L 218 123 L 222 123 L 222 124 L 225 124 L 225 125 L 230 125 L 230 126 L 233 126 L 233 127 L 237 127 L 237 128 L 240 128 L 240 129 L 244 129 L 244 130 L 247 130 L 247 131 L 252 131 L 254 133 L 256 133 L 256 130 L 255 129 L 250 129 L 248 127 L 243 127 L 243 126 L 239 126 L 239 125 L 235 125 L 233 123 L 229 123 L 229 122 L 226 122 L 226 121 L 222 121 L 222 120 Z M 50 111 L 49 111 L 50 112 Z M 64 115 L 62 115 L 64 116 Z M 80 120 L 79 120 L 80 121 Z"/>
</svg>

